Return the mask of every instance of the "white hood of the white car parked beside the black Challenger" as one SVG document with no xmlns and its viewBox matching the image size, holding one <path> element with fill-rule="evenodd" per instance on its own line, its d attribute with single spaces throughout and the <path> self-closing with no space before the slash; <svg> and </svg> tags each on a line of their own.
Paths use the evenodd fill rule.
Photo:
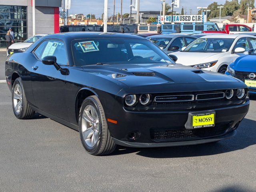
<svg viewBox="0 0 256 192">
<path fill-rule="evenodd" d="M 220 52 L 220 53 L 199 53 L 199 52 L 174 52 L 171 53 L 172 55 L 175 55 L 178 60 L 177 63 L 186 65 L 186 66 L 192 66 L 207 62 L 216 61 L 222 56 L 224 56 L 227 52 Z"/>
</svg>

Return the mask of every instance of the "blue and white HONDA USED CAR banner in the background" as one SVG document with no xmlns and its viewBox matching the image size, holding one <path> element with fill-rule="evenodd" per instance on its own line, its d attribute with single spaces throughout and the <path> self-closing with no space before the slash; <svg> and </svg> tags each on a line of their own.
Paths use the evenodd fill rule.
<svg viewBox="0 0 256 192">
<path fill-rule="evenodd" d="M 203 15 L 175 15 L 175 16 L 170 16 L 170 15 L 166 15 L 165 16 L 165 20 L 164 17 L 161 16 L 161 23 L 165 22 L 165 23 L 192 23 L 192 22 L 198 22 L 198 23 L 202 23 L 204 21 L 206 21 L 206 16 Z"/>
</svg>

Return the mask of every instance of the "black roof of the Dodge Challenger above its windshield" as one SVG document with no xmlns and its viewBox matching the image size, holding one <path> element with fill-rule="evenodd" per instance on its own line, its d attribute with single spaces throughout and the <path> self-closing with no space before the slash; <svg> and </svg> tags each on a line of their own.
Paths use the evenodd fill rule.
<svg viewBox="0 0 256 192">
<path fill-rule="evenodd" d="M 112 32 L 64 32 L 58 34 L 48 35 L 47 38 L 73 38 L 73 39 L 84 39 L 84 38 L 135 38 L 145 39 L 134 34 L 125 33 L 112 33 Z"/>
</svg>

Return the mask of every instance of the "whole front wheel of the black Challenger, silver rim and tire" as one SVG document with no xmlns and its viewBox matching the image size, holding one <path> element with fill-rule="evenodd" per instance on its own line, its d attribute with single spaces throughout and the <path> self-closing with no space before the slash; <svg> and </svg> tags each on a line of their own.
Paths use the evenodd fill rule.
<svg viewBox="0 0 256 192">
<path fill-rule="evenodd" d="M 116 144 L 108 130 L 105 113 L 96 96 L 87 97 L 79 113 L 79 133 L 86 151 L 92 155 L 112 153 Z"/>
</svg>

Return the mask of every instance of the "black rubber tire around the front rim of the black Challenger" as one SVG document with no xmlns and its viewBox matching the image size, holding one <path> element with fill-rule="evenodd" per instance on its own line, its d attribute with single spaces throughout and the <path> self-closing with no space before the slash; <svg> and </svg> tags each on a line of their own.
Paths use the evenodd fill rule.
<svg viewBox="0 0 256 192">
<path fill-rule="evenodd" d="M 83 133 L 82 133 L 82 125 L 81 125 L 84 109 L 88 105 L 91 105 L 95 108 L 97 115 L 99 117 L 98 142 L 95 144 L 95 146 L 92 146 L 92 147 L 86 144 Z M 116 144 L 114 143 L 114 140 L 112 139 L 110 132 L 108 130 L 104 109 L 97 96 L 89 96 L 82 103 L 82 106 L 79 112 L 78 126 L 79 126 L 79 133 L 80 133 L 80 139 L 81 139 L 82 145 L 84 146 L 84 148 L 89 154 L 100 156 L 100 155 L 110 154 L 115 150 Z"/>
</svg>

